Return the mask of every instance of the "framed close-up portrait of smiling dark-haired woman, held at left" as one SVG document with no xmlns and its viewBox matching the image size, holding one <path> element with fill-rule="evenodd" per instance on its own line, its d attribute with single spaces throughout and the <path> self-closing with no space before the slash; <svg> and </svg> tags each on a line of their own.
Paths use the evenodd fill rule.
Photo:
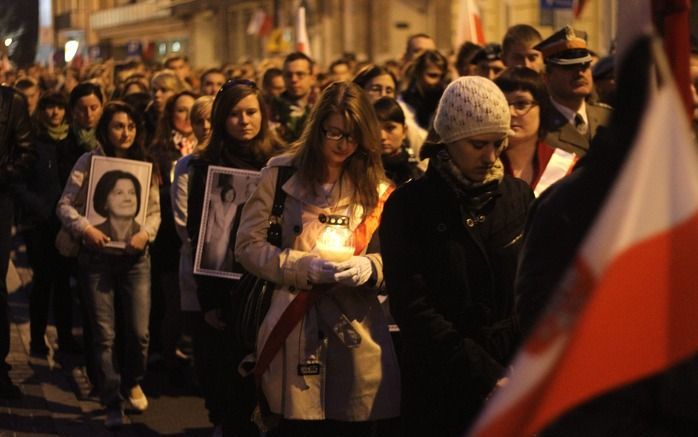
<svg viewBox="0 0 698 437">
<path fill-rule="evenodd" d="M 125 249 L 143 226 L 153 165 L 130 159 L 93 156 L 85 215 L 111 241 Z"/>
</svg>

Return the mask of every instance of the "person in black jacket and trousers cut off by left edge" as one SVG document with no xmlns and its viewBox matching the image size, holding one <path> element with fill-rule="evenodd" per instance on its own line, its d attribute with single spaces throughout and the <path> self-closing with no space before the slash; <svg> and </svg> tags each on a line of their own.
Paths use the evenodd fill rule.
<svg viewBox="0 0 698 437">
<path fill-rule="evenodd" d="M 18 399 L 5 362 L 10 352 L 7 269 L 10 262 L 14 198 L 12 186 L 29 173 L 36 161 L 27 101 L 17 90 L 0 85 L 0 398 Z"/>
</svg>

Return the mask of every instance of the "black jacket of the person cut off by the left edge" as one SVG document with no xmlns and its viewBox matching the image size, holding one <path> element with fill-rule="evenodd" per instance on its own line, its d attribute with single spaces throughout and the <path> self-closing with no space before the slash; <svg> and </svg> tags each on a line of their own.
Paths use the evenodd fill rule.
<svg viewBox="0 0 698 437">
<path fill-rule="evenodd" d="M 27 101 L 0 85 L 0 191 L 26 177 L 36 157 Z"/>
</svg>

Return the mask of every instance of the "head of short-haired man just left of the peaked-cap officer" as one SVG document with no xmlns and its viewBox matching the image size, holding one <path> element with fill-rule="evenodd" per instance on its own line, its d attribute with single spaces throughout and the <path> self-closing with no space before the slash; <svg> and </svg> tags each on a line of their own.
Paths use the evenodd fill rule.
<svg viewBox="0 0 698 437">
<path fill-rule="evenodd" d="M 543 37 L 535 27 L 528 24 L 511 26 L 502 40 L 502 60 L 507 67 L 521 65 L 543 72 L 543 55 L 533 48 Z"/>
</svg>

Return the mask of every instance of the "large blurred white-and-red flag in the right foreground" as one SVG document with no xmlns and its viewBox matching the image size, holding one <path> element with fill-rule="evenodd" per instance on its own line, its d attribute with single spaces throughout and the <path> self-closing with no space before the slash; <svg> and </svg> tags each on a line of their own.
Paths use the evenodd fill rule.
<svg viewBox="0 0 698 437">
<path fill-rule="evenodd" d="M 509 383 L 469 435 L 530 436 L 698 352 L 698 156 L 667 61 L 632 148 Z"/>
</svg>

